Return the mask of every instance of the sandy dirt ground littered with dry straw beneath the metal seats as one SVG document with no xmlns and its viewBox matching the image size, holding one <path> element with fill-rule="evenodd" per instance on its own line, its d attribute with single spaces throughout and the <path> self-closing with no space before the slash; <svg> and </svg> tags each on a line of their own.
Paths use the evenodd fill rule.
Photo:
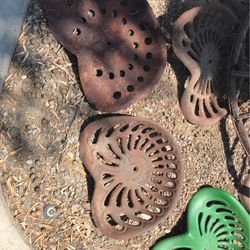
<svg viewBox="0 0 250 250">
<path fill-rule="evenodd" d="M 149 2 L 166 36 L 190 7 L 180 0 Z M 149 249 L 161 236 L 185 230 L 181 217 L 201 186 L 222 188 L 237 197 L 249 163 L 232 121 L 227 116 L 207 129 L 185 120 L 178 96 L 188 72 L 170 49 L 159 84 L 121 113 L 152 119 L 174 136 L 185 161 L 182 195 L 175 210 L 149 233 L 127 241 L 103 236 L 91 220 L 78 150 L 81 125 L 98 112 L 84 102 L 75 69 L 33 0 L 0 95 L 0 181 L 34 249 Z M 46 216 L 47 205 L 56 206 L 53 218 Z"/>
</svg>

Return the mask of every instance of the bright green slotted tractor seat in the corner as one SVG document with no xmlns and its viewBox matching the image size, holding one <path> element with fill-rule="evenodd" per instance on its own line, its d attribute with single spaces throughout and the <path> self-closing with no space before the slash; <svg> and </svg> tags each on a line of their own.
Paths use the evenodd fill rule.
<svg viewBox="0 0 250 250">
<path fill-rule="evenodd" d="M 249 250 L 250 216 L 229 193 L 204 188 L 188 206 L 188 230 L 157 243 L 153 250 Z"/>
</svg>

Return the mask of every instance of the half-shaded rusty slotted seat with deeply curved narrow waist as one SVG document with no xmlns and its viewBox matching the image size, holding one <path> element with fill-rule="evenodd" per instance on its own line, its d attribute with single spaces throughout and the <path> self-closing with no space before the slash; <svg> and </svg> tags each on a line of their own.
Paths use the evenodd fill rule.
<svg viewBox="0 0 250 250">
<path fill-rule="evenodd" d="M 193 124 L 211 126 L 227 114 L 222 97 L 237 27 L 237 17 L 222 4 L 193 8 L 174 25 L 174 52 L 191 73 L 181 109 Z"/>
</svg>

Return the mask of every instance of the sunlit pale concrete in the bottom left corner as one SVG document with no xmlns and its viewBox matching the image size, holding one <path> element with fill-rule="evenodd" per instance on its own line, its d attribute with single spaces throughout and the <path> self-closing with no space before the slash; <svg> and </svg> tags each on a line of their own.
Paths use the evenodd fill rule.
<svg viewBox="0 0 250 250">
<path fill-rule="evenodd" d="M 0 250 L 30 250 L 13 222 L 0 186 Z"/>
</svg>

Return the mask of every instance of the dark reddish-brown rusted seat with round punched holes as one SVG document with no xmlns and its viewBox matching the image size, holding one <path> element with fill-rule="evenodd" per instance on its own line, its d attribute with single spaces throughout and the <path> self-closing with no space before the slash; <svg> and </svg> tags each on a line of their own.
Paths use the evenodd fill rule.
<svg viewBox="0 0 250 250">
<path fill-rule="evenodd" d="M 167 51 L 146 0 L 43 0 L 43 10 L 56 39 L 77 56 L 93 108 L 126 108 L 160 80 Z"/>
</svg>

